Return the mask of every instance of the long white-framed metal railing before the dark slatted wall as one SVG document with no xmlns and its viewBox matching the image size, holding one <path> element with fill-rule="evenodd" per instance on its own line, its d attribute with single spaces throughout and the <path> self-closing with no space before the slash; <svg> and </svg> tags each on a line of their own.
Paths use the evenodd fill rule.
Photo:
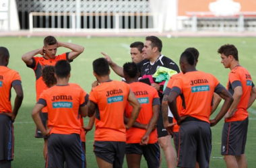
<svg viewBox="0 0 256 168">
<path fill-rule="evenodd" d="M 45 13 L 29 14 L 33 31 L 72 32 L 162 32 L 162 24 L 154 27 L 153 19 L 162 23 L 161 13 Z"/>
</svg>

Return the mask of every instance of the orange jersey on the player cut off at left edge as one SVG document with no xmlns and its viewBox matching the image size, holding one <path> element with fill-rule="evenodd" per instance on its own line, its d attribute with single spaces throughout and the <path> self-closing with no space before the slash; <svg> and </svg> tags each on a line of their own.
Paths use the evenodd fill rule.
<svg viewBox="0 0 256 168">
<path fill-rule="evenodd" d="M 12 113 L 11 87 L 22 85 L 18 72 L 8 67 L 0 66 L 0 113 Z"/>
</svg>

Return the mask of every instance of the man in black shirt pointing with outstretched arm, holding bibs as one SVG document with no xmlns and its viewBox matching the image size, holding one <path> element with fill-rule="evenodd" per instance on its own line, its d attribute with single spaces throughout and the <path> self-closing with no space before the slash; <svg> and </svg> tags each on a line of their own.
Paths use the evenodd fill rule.
<svg viewBox="0 0 256 168">
<path fill-rule="evenodd" d="M 141 62 L 137 64 L 139 68 L 139 73 L 141 77 L 143 75 L 154 75 L 158 67 L 166 67 L 168 69 L 172 69 L 179 73 L 179 67 L 177 64 L 171 60 L 170 58 L 161 54 L 162 51 L 162 41 L 156 36 L 148 36 L 146 37 L 146 42 L 144 43 L 143 58 Z M 119 67 L 115 62 L 113 62 L 108 55 L 104 55 L 106 60 L 108 60 L 109 65 L 117 75 L 123 77 L 123 68 Z M 158 95 L 160 97 L 160 102 L 162 103 L 162 91 L 164 85 L 160 85 L 159 83 L 152 83 L 152 87 L 154 87 L 158 91 Z M 172 116 L 169 118 L 170 122 L 172 122 Z M 164 151 L 164 156 L 166 159 L 166 165 L 168 167 L 175 167 L 175 151 L 171 144 L 171 136 L 168 135 L 168 132 L 164 128 L 164 124 L 162 121 L 162 112 L 160 113 L 158 122 L 157 122 L 157 131 L 158 131 L 158 142 Z"/>
</svg>

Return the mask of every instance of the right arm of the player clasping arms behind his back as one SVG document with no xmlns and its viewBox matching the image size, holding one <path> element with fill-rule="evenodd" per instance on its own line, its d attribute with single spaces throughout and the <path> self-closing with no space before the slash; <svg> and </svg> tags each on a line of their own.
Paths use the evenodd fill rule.
<svg viewBox="0 0 256 168">
<path fill-rule="evenodd" d="M 150 140 L 150 134 L 156 128 L 156 122 L 158 121 L 158 118 L 159 118 L 160 105 L 152 106 L 152 110 L 153 110 L 153 116 L 150 119 L 150 122 L 148 123 L 148 128 L 145 134 L 141 138 L 141 142 L 139 143 L 141 145 L 148 144 L 148 141 Z"/>
</svg>

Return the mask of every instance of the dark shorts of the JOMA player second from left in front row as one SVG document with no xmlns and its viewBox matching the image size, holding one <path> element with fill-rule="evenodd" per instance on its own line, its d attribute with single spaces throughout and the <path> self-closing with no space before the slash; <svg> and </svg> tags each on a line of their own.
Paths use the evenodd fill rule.
<svg viewBox="0 0 256 168">
<path fill-rule="evenodd" d="M 79 134 L 51 134 L 47 141 L 47 168 L 86 167 L 86 155 Z"/>
</svg>

